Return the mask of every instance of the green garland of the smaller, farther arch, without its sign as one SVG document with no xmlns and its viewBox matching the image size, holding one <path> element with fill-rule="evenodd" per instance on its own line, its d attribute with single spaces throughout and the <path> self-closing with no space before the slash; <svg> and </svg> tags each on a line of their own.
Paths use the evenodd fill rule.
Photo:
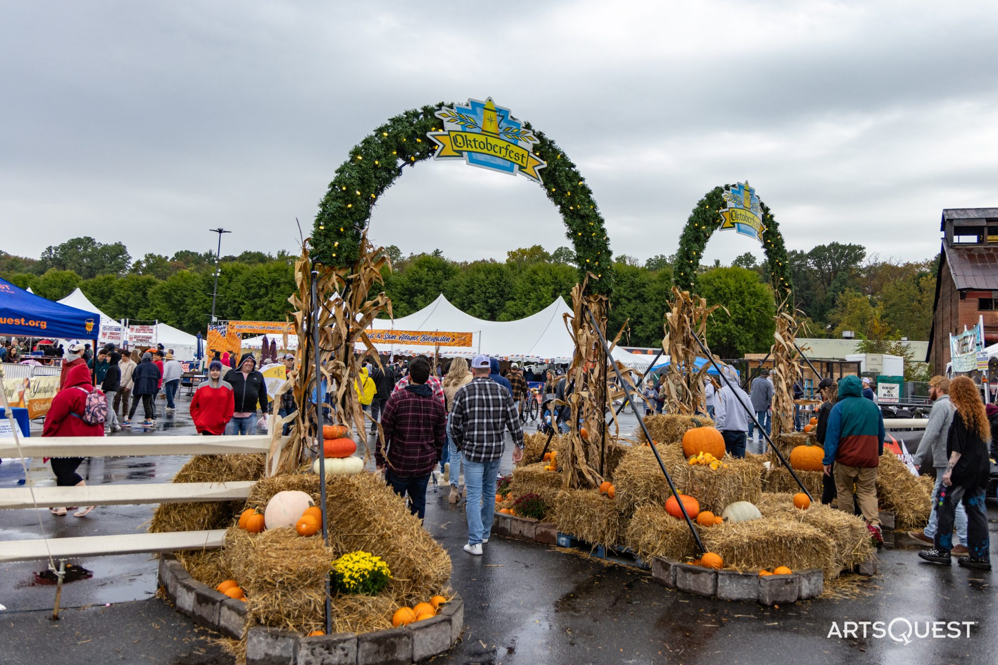
<svg viewBox="0 0 998 665">
<path fill-rule="evenodd" d="M 707 247 L 707 241 L 711 239 L 714 231 L 721 228 L 724 222 L 721 210 L 725 207 L 725 199 L 721 194 L 730 186 L 730 184 L 724 187 L 717 186 L 708 191 L 690 213 L 683 235 L 680 236 L 680 249 L 676 255 L 676 264 L 673 266 L 673 283 L 684 291 L 694 292 L 697 288 L 697 273 L 700 259 L 704 256 L 704 248 Z M 783 236 L 779 232 L 779 224 L 772 216 L 772 211 L 761 198 L 758 202 L 762 208 L 762 223 L 765 225 L 765 230 L 762 231 L 762 246 L 765 250 L 772 295 L 777 307 L 790 307 L 789 295 L 793 290 L 793 282 L 790 280 L 786 245 L 783 244 Z"/>
</svg>

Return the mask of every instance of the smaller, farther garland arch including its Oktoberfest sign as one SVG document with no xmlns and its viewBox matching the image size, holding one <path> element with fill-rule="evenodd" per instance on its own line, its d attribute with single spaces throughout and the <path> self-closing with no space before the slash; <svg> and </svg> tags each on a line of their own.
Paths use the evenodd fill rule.
<svg viewBox="0 0 998 665">
<path fill-rule="evenodd" d="M 761 242 L 776 307 L 792 308 L 788 296 L 793 283 L 779 224 L 748 182 L 717 186 L 697 202 L 680 237 L 673 283 L 681 290 L 696 291 L 704 249 L 717 230 L 734 230 Z"/>
</svg>

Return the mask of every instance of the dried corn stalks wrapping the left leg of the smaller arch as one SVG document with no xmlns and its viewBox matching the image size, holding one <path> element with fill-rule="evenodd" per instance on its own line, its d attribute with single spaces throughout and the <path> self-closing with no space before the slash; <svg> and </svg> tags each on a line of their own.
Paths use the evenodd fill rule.
<svg viewBox="0 0 998 665">
<path fill-rule="evenodd" d="M 692 333 L 696 332 L 706 345 L 707 319 L 719 307 L 721 305 L 708 307 L 704 298 L 673 287 L 673 301 L 666 312 L 666 336 L 662 340 L 662 348 L 669 356 L 669 368 L 662 384 L 665 387 L 666 409 L 671 414 L 693 416 L 707 413 L 704 376 L 710 364 L 696 369 L 697 358 L 703 352 Z"/>
</svg>

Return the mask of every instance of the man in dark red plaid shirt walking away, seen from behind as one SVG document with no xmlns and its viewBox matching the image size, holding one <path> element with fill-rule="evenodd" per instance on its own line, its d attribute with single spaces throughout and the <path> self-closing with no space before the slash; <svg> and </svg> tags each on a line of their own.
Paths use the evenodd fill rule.
<svg viewBox="0 0 998 665">
<path fill-rule="evenodd" d="M 409 382 L 388 398 L 381 413 L 384 442 L 374 449 L 374 464 L 395 494 L 409 495 L 412 514 L 426 515 L 426 485 L 447 441 L 447 412 L 426 380 L 430 365 L 421 358 L 409 367 Z M 493 499 L 493 502 L 495 499 Z"/>
</svg>

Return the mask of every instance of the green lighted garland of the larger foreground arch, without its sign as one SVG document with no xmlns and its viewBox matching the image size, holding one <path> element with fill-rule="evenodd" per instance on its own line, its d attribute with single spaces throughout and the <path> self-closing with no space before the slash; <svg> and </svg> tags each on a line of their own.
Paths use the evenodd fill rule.
<svg viewBox="0 0 998 665">
<path fill-rule="evenodd" d="M 454 105 L 440 103 L 395 116 L 350 150 L 318 204 L 311 236 L 315 260 L 334 267 L 356 262 L 361 234 L 377 200 L 405 166 L 433 156 L 436 147 L 426 134 L 442 129 L 442 121 L 434 114 L 444 106 Z M 597 279 L 590 279 L 589 291 L 608 295 L 613 286 L 613 255 L 592 190 L 553 141 L 534 131 L 530 123 L 524 127 L 539 139 L 533 152 L 547 163 L 539 171 L 544 180 L 541 186 L 561 212 L 566 236 L 575 246 L 580 283 L 591 272 Z"/>
</svg>

